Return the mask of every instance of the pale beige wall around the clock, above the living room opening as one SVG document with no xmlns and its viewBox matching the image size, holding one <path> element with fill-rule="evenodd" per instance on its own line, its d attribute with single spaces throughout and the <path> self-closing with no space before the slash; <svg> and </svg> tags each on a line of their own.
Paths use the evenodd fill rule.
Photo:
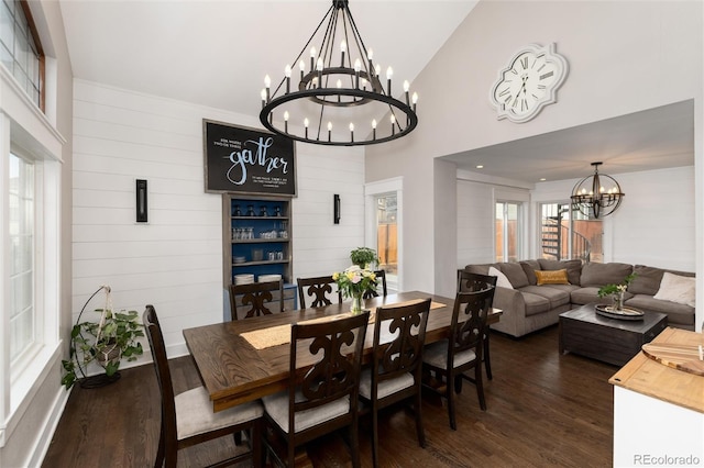
<svg viewBox="0 0 704 468">
<path fill-rule="evenodd" d="M 413 280 L 407 285 L 442 287 L 436 282 L 441 277 L 436 268 L 444 266 L 436 260 L 438 252 L 425 247 L 429 234 L 421 226 L 435 219 L 438 207 L 451 203 L 435 199 L 435 183 L 454 181 L 431 176 L 433 158 L 694 99 L 695 168 L 697 177 L 704 177 L 698 130 L 702 7 L 667 1 L 480 2 L 413 83 L 420 96 L 418 127 L 405 138 L 366 152 L 366 181 L 399 176 L 407 181 L 405 207 L 413 207 L 404 222 L 404 268 Z M 497 121 L 488 101 L 492 83 L 506 60 L 530 43 L 557 43 L 570 63 L 559 101 L 527 123 Z M 696 216 L 702 212 L 697 209 Z M 436 231 L 447 229 L 457 230 L 457 224 L 435 225 Z M 692 255 L 697 255 L 702 268 L 701 227 L 695 235 L 700 242 Z M 457 244 L 444 248 L 454 250 Z"/>
</svg>

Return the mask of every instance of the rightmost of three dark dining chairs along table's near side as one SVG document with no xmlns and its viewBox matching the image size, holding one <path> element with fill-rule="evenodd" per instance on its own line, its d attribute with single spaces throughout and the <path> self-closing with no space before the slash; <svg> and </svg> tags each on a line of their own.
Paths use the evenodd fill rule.
<svg viewBox="0 0 704 468">
<path fill-rule="evenodd" d="M 458 292 L 448 338 L 432 343 L 424 349 L 424 388 L 448 400 L 452 430 L 457 430 L 454 400 L 455 393 L 462 390 L 462 379 L 468 379 L 476 386 L 480 408 L 486 411 L 482 383 L 482 355 L 486 316 L 493 296 L 494 288 L 477 292 Z M 470 369 L 474 369 L 473 378 L 464 374 Z"/>
</svg>

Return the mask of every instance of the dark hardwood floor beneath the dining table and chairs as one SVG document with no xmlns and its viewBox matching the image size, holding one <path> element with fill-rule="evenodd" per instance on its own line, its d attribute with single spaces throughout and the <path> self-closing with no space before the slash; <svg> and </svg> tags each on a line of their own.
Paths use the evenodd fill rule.
<svg viewBox="0 0 704 468">
<path fill-rule="evenodd" d="M 177 392 L 199 385 L 189 357 L 170 361 Z M 437 397 L 424 402 L 427 446 L 416 439 L 409 410 L 381 417 L 384 467 L 609 467 L 613 453 L 613 390 L 617 368 L 558 353 L 558 327 L 521 339 L 492 335 L 493 380 L 485 380 L 487 411 L 465 382 L 458 399 L 458 431 Z M 153 466 L 160 426 L 158 387 L 152 366 L 122 371 L 109 387 L 76 386 L 44 460 L 44 467 Z M 362 466 L 372 466 L 369 420 L 362 419 Z M 179 453 L 179 467 L 226 458 L 231 438 Z M 331 435 L 308 447 L 316 467 L 349 466 L 344 439 Z"/>
</svg>

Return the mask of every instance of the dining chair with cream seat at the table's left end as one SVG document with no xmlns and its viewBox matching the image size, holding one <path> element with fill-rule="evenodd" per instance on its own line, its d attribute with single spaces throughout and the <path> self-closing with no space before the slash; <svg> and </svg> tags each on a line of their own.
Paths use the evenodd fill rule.
<svg viewBox="0 0 704 468">
<path fill-rule="evenodd" d="M 147 332 L 162 399 L 162 423 L 154 467 L 176 467 L 178 450 L 182 448 L 230 434 L 234 436 L 241 431 L 249 433 L 251 450 L 233 456 L 222 464 L 251 458 L 255 467 L 261 467 L 264 414 L 261 401 L 243 403 L 215 413 L 208 391 L 204 387 L 174 394 L 164 336 L 153 305 L 146 305 L 142 323 Z"/>
</svg>

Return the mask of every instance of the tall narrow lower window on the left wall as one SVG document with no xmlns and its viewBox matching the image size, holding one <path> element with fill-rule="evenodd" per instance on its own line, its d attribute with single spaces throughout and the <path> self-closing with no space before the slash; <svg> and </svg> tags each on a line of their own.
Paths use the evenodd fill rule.
<svg viewBox="0 0 704 468">
<path fill-rule="evenodd" d="M 34 165 L 14 154 L 9 164 L 10 365 L 35 343 Z"/>
</svg>

